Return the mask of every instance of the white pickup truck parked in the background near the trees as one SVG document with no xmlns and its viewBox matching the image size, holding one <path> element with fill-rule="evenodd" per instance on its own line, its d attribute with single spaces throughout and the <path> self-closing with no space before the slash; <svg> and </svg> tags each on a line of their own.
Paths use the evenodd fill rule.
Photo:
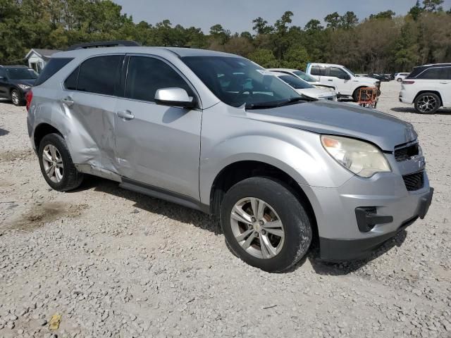
<svg viewBox="0 0 451 338">
<path fill-rule="evenodd" d="M 305 71 L 323 84 L 332 84 L 338 96 L 352 96 L 357 101 L 357 93 L 362 87 L 381 88 L 381 81 L 372 77 L 357 76 L 343 65 L 331 63 L 309 63 Z"/>
</svg>

